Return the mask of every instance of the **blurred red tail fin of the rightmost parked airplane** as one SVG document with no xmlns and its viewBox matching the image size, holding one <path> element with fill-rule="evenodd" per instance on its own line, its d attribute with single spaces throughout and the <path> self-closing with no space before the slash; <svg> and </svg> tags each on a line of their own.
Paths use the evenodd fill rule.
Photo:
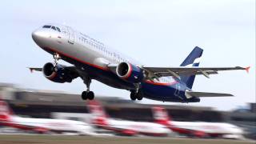
<svg viewBox="0 0 256 144">
<path fill-rule="evenodd" d="M 155 122 L 162 125 L 170 125 L 170 118 L 165 108 L 160 106 L 153 107 L 153 116 Z"/>
</svg>

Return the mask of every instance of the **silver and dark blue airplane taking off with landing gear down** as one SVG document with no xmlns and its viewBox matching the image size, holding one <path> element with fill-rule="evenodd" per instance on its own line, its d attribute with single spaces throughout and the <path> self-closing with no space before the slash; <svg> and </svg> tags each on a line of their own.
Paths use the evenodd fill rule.
<svg viewBox="0 0 256 144">
<path fill-rule="evenodd" d="M 97 80 L 114 88 L 129 90 L 131 100 L 149 98 L 162 102 L 200 102 L 200 97 L 233 96 L 232 94 L 205 93 L 192 90 L 195 75 L 210 77 L 221 70 L 246 70 L 249 67 L 198 67 L 202 49 L 196 46 L 177 67 L 143 66 L 102 42 L 90 38 L 70 26 L 47 24 L 32 33 L 34 42 L 54 56 L 54 62 L 47 62 L 42 71 L 53 82 L 72 82 L 82 78 L 87 90 L 83 100 L 94 99 L 90 91 L 91 80 Z M 58 64 L 62 59 L 73 66 Z"/>
</svg>

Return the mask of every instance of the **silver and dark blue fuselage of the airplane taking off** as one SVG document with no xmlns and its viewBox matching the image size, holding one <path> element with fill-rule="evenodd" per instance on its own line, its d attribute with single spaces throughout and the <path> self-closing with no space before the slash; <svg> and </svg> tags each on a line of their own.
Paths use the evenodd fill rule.
<svg viewBox="0 0 256 144">
<path fill-rule="evenodd" d="M 59 27 L 60 30 L 39 28 L 32 34 L 34 42 L 43 50 L 50 54 L 59 54 L 64 61 L 73 64 L 82 77 L 90 77 L 118 89 L 136 89 L 134 83 L 119 78 L 108 68 L 108 65 L 129 62 L 137 66 L 140 65 L 138 62 L 86 34 L 73 30 L 70 26 L 56 24 L 50 26 Z M 200 102 L 199 98 L 186 98 L 185 92 L 190 88 L 178 78 L 154 78 L 142 81 L 140 86 L 143 98 L 162 102 Z"/>
</svg>

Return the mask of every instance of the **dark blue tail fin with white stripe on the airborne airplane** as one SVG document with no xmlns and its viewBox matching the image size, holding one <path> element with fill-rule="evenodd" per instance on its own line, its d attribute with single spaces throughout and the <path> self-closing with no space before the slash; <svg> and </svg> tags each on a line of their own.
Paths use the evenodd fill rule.
<svg viewBox="0 0 256 144">
<path fill-rule="evenodd" d="M 202 56 L 202 49 L 198 46 L 194 47 L 194 50 L 186 57 L 181 66 L 199 66 L 199 58 Z M 182 82 L 186 83 L 186 86 L 190 89 L 193 86 L 195 75 L 181 75 Z"/>
</svg>

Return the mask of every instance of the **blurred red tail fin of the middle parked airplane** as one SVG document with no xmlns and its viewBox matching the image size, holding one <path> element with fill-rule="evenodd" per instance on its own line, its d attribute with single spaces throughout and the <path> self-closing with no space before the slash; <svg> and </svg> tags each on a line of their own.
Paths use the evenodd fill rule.
<svg viewBox="0 0 256 144">
<path fill-rule="evenodd" d="M 106 114 L 101 106 L 101 104 L 96 101 L 88 102 L 88 108 L 90 110 L 90 114 L 93 114 L 93 123 L 98 126 L 106 126 Z"/>
</svg>

